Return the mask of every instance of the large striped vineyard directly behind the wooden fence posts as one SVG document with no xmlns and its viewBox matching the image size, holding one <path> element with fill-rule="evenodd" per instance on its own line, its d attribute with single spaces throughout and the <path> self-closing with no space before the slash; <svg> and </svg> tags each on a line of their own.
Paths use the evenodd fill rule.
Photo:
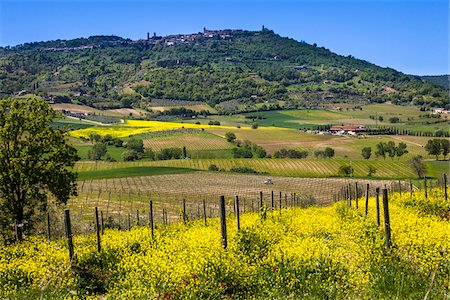
<svg viewBox="0 0 450 300">
<path fill-rule="evenodd" d="M 126 227 L 128 215 L 132 223 L 139 222 L 138 219 L 145 222 L 149 200 L 153 201 L 157 212 L 156 220 L 162 221 L 166 217 L 173 222 L 180 217 L 183 200 L 190 218 L 199 218 L 203 202 L 207 206 L 208 216 L 217 215 L 219 195 L 228 195 L 227 203 L 231 203 L 237 195 L 241 198 L 244 211 L 256 211 L 261 192 L 267 205 L 270 204 L 272 192 L 277 205 L 280 200 L 283 205 L 293 201 L 294 193 L 296 198 L 308 199 L 317 205 L 327 205 L 332 203 L 332 195 L 343 185 L 353 185 L 356 182 L 363 185 L 370 182 L 379 186 L 392 184 L 392 181 L 273 177 L 273 184 L 266 185 L 266 178 L 197 172 L 82 181 L 79 183 L 79 196 L 71 199 L 68 207 L 80 220 L 89 219 L 94 207 L 98 207 L 104 212 L 106 219 L 112 218 L 115 223 Z M 86 231 L 89 228 L 79 230 Z"/>
</svg>

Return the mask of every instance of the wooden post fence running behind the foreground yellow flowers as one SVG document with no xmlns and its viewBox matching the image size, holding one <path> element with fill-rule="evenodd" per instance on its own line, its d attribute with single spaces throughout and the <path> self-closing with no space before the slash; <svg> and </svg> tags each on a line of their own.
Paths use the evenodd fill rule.
<svg viewBox="0 0 450 300">
<path fill-rule="evenodd" d="M 378 226 L 380 224 L 380 197 L 382 200 L 383 215 L 384 215 L 384 227 L 386 233 L 386 246 L 391 246 L 391 232 L 390 232 L 390 216 L 389 216 L 389 194 L 393 192 L 409 193 L 412 197 L 413 193 L 417 190 L 424 190 L 425 197 L 427 191 L 431 188 L 438 186 L 444 187 L 444 195 L 446 201 L 448 200 L 447 195 L 447 176 L 444 174 L 438 180 L 427 180 L 424 178 L 423 184 L 419 187 L 414 186 L 412 181 L 390 181 L 383 183 L 380 182 L 362 182 L 362 181 L 352 181 L 346 183 L 340 187 L 340 189 L 331 195 L 333 201 L 346 201 L 350 207 L 358 209 L 359 206 L 364 206 L 364 214 L 368 215 L 369 207 L 369 197 L 375 196 L 376 200 L 376 223 Z M 273 191 L 269 193 L 264 191 L 259 191 L 257 195 L 253 197 L 246 196 L 224 196 L 216 197 L 215 199 L 206 199 L 202 201 L 188 201 L 183 198 L 180 202 L 171 202 L 169 205 L 164 205 L 164 203 L 155 203 L 154 200 L 148 200 L 146 202 L 146 208 L 143 209 L 142 206 L 137 207 L 133 210 L 133 201 L 130 201 L 130 210 L 123 211 L 119 210 L 118 214 L 114 215 L 113 212 L 108 211 L 108 206 L 106 206 L 106 211 L 99 209 L 95 206 L 90 212 L 90 219 L 77 218 L 77 211 L 70 210 L 66 208 L 64 211 L 64 234 L 68 241 L 69 255 L 72 258 L 74 255 L 73 241 L 72 237 L 74 234 L 83 233 L 94 233 L 97 236 L 97 250 L 101 251 L 100 239 L 105 228 L 118 228 L 121 230 L 131 230 L 133 226 L 149 226 L 151 230 L 151 235 L 154 235 L 155 227 L 165 228 L 167 225 L 174 222 L 184 222 L 185 224 L 190 220 L 203 219 L 204 223 L 207 224 L 208 218 L 217 218 L 221 220 L 221 234 L 222 234 L 222 244 L 227 247 L 227 235 L 226 235 L 226 217 L 227 215 L 234 215 L 236 218 L 237 229 L 240 229 L 240 214 L 247 212 L 257 212 L 257 211 L 274 211 L 288 209 L 291 207 L 306 207 L 315 204 L 309 197 L 310 195 L 304 195 L 297 192 L 282 192 Z M 199 197 L 201 198 L 201 197 Z M 219 199 L 219 201 L 217 201 Z M 365 199 L 364 203 L 360 203 L 362 199 Z M 81 207 L 82 209 L 82 207 Z M 170 209 L 170 212 L 169 212 Z M 177 212 L 178 213 L 175 213 Z M 58 225 L 58 217 L 61 216 L 58 212 L 48 211 L 45 214 L 45 234 L 48 240 L 52 240 L 61 237 L 61 227 L 56 229 Z M 75 218 L 73 218 L 75 216 Z M 86 216 L 87 217 L 87 216 Z M 74 222 L 75 220 L 75 222 Z M 88 230 L 80 230 L 79 225 L 87 221 L 89 223 Z M 77 226 L 78 223 L 78 226 Z M 74 226 L 75 224 L 75 226 Z M 17 232 L 19 226 L 16 222 L 14 227 Z M 41 232 L 44 233 L 44 232 Z"/>
</svg>

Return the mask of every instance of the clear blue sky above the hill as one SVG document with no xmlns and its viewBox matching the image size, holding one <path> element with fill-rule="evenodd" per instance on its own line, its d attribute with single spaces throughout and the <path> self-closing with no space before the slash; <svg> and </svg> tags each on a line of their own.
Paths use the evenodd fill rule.
<svg viewBox="0 0 450 300">
<path fill-rule="evenodd" d="M 0 0 L 3 47 L 262 25 L 407 74 L 450 74 L 448 0 Z"/>
</svg>

